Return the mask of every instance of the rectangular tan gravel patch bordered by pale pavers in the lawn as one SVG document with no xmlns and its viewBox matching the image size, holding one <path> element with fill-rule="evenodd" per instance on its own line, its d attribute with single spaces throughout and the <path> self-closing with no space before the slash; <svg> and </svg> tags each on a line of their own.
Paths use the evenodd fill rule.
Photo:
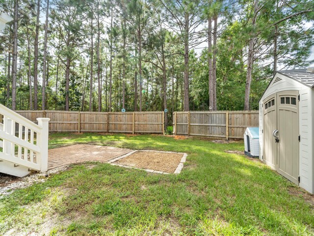
<svg viewBox="0 0 314 236">
<path fill-rule="evenodd" d="M 136 151 L 115 163 L 141 169 L 174 173 L 182 157 L 183 154 L 181 153 Z"/>
</svg>

